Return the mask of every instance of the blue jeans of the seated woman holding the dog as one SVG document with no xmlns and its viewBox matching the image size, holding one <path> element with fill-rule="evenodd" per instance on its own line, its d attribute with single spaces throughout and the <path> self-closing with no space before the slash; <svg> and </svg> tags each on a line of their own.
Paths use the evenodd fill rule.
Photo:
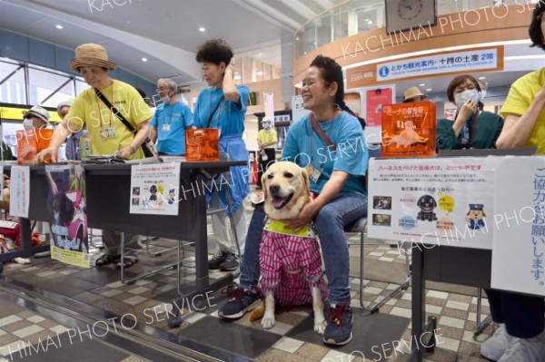
<svg viewBox="0 0 545 362">
<path fill-rule="evenodd" d="M 341 192 L 318 212 L 314 220 L 322 244 L 332 304 L 350 301 L 350 259 L 344 227 L 366 215 L 366 197 L 353 192 Z M 259 280 L 259 245 L 264 216 L 263 204 L 260 204 L 253 211 L 246 236 L 240 282 L 243 289 L 255 288 Z"/>
</svg>

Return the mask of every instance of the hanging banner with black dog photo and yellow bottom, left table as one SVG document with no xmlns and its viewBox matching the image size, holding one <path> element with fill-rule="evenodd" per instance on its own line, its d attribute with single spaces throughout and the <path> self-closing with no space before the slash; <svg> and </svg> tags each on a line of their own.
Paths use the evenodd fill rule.
<svg viewBox="0 0 545 362">
<path fill-rule="evenodd" d="M 46 165 L 51 215 L 51 259 L 90 268 L 85 199 L 85 172 L 81 164 Z"/>
</svg>

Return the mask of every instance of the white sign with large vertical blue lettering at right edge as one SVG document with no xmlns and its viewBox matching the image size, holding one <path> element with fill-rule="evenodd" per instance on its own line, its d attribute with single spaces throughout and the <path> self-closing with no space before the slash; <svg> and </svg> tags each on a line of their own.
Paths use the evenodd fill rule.
<svg viewBox="0 0 545 362">
<path fill-rule="evenodd" d="M 545 296 L 545 157 L 505 157 L 495 192 L 491 287 Z"/>
</svg>

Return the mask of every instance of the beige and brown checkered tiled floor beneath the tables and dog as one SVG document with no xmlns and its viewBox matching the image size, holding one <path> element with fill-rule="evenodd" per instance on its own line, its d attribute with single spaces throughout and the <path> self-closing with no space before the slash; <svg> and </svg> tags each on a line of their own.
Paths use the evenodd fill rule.
<svg viewBox="0 0 545 362">
<path fill-rule="evenodd" d="M 209 230 L 209 234 L 213 239 L 212 230 Z M 173 243 L 173 240 L 160 241 L 164 244 Z M 213 245 L 212 242 L 209 244 Z M 359 247 L 351 246 L 350 252 L 352 262 L 357 261 Z M 377 269 L 373 275 L 379 276 L 373 280 L 364 280 L 364 300 L 369 302 L 395 289 L 393 280 L 384 279 L 381 275 L 389 275 L 392 266 L 402 269 L 404 256 L 398 249 L 384 244 L 366 247 L 365 253 L 366 260 L 370 260 L 372 268 Z M 98 255 L 100 255 L 98 251 L 94 250 L 94 259 Z M 140 262 L 128 271 L 154 269 L 174 258 L 172 254 L 153 257 L 146 254 L 145 250 L 141 250 L 139 255 Z M 387 359 L 397 362 L 407 360 L 407 352 L 414 347 L 414 343 L 411 343 L 413 341 L 410 324 L 411 288 L 391 298 L 381 307 L 380 313 L 368 315 L 357 308 L 360 305 L 360 300 L 357 299 L 359 278 L 352 279 L 354 338 L 348 346 L 330 348 L 323 345 L 320 336 L 312 332 L 310 307 L 279 308 L 274 328 L 263 331 L 260 321 L 251 321 L 249 315 L 234 322 L 225 322 L 217 318 L 217 310 L 225 301 L 222 291 L 201 296 L 189 303 L 184 300 L 183 306 L 174 306 L 171 302 L 177 298 L 175 269 L 164 269 L 149 279 L 139 280 L 134 285 L 125 285 L 119 281 L 119 271 L 113 266 L 78 269 L 50 259 L 33 259 L 33 264 L 27 266 L 6 265 L 4 275 L 7 281 L 14 280 L 13 282 L 19 285 L 24 283 L 27 286 L 70 297 L 76 302 L 83 302 L 84 305 L 113 313 L 118 317 L 130 314 L 139 323 L 138 328 L 162 331 L 155 334 L 162 336 L 157 338 L 169 339 L 181 345 L 188 344 L 197 349 L 213 347 L 219 354 L 216 356 L 218 359 L 235 355 L 263 362 L 280 360 L 341 362 L 362 361 L 365 357 L 365 360 Z M 211 273 L 212 279 L 222 276 L 222 272 Z M 191 248 L 185 250 L 182 277 L 183 282 L 194 280 L 194 257 Z M 14 346 L 21 341 L 35 343 L 37 338 L 55 335 L 65 328 L 24 308 L 18 306 L 13 308 L 15 308 L 13 312 L 0 309 L 0 346 Z M 183 323 L 179 328 L 169 328 L 166 323 L 166 316 L 172 308 L 183 310 Z M 425 360 L 486 361 L 479 354 L 480 341 L 492 333 L 492 328 L 490 326 L 486 328 L 478 340 L 473 338 L 477 300 L 471 289 L 456 286 L 428 289 L 426 311 L 428 315 L 437 317 L 438 347 L 434 353 L 426 354 Z M 483 313 L 485 316 L 489 313 L 486 299 Z M 307 325 L 310 328 L 307 328 Z M 0 356 L 5 355 L 0 353 Z M 136 357 L 127 355 L 126 358 L 128 359 L 124 360 L 132 361 L 134 359 L 130 358 Z"/>
</svg>

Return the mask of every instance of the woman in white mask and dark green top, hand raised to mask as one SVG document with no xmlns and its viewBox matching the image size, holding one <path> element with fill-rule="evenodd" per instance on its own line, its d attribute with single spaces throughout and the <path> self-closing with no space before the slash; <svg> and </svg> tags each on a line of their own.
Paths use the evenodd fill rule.
<svg viewBox="0 0 545 362">
<path fill-rule="evenodd" d="M 490 149 L 503 127 L 503 118 L 481 111 L 482 91 L 479 82 L 469 74 L 458 75 L 447 88 L 449 101 L 458 109 L 454 121 L 437 121 L 437 149 Z"/>
</svg>

